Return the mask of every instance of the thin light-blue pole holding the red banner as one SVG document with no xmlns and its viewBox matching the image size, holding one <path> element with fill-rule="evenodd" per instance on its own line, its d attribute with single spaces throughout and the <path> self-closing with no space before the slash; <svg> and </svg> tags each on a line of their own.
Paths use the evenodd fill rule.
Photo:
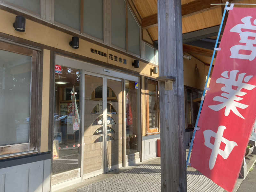
<svg viewBox="0 0 256 192">
<path fill-rule="evenodd" d="M 228 6 L 228 1 L 225 4 L 225 8 L 227 6 Z M 221 29 L 222 29 L 222 25 L 223 25 L 223 21 L 224 21 L 225 15 L 226 15 L 226 11 L 227 10 L 224 9 L 222 20 L 221 20 L 221 23 L 220 23 L 220 29 L 219 29 L 218 36 L 217 36 L 217 39 L 216 39 L 216 42 L 215 42 L 215 46 L 214 46 L 214 50 L 213 50 L 213 53 L 212 53 L 212 60 L 211 60 L 211 64 L 210 64 L 210 67 L 209 67 L 208 74 L 207 74 L 207 79 L 206 79 L 206 82 L 205 82 L 204 92 L 203 92 L 203 96 L 201 98 L 200 107 L 199 107 L 199 110 L 198 110 L 198 113 L 197 113 L 197 117 L 196 117 L 196 124 L 195 124 L 193 136 L 192 136 L 190 147 L 189 147 L 189 151 L 188 151 L 187 167 L 188 167 L 188 164 L 189 164 L 188 161 L 189 161 L 189 158 L 190 158 L 190 155 L 191 155 L 191 150 L 192 150 L 192 147 L 193 147 L 193 143 L 194 143 L 194 139 L 195 139 L 195 135 L 196 135 L 196 130 L 197 130 L 197 124 L 198 124 L 198 121 L 199 121 L 199 117 L 200 117 L 202 106 L 203 106 L 203 102 L 204 102 L 204 95 L 205 95 L 205 91 L 207 89 L 207 84 L 208 84 L 208 81 L 209 81 L 209 76 L 210 76 L 210 73 L 211 73 L 211 70 L 212 70 L 212 63 L 213 63 L 213 60 L 214 60 L 214 55 L 215 55 L 215 52 L 216 52 L 217 44 L 219 42 L 220 32 L 221 32 Z"/>
</svg>

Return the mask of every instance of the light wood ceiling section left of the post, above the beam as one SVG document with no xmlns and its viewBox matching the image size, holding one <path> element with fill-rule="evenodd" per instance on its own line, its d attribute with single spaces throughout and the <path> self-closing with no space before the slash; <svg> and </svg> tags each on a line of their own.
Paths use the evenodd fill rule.
<svg viewBox="0 0 256 192">
<path fill-rule="evenodd" d="M 141 18 L 157 13 L 157 0 L 132 0 Z"/>
</svg>

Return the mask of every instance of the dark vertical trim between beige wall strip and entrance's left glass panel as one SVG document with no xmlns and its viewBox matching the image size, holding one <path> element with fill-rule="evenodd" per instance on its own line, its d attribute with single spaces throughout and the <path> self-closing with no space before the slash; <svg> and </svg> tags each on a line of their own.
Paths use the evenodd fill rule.
<svg viewBox="0 0 256 192">
<path fill-rule="evenodd" d="M 48 128 L 48 151 L 52 151 L 52 128 L 54 126 L 54 94 L 55 94 L 55 53 L 50 52 L 50 94 L 49 94 L 49 128 Z"/>
</svg>

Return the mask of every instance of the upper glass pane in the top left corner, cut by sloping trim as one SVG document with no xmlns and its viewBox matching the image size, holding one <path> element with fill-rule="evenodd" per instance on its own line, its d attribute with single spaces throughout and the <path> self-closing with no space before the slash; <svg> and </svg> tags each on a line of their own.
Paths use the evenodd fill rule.
<svg viewBox="0 0 256 192">
<path fill-rule="evenodd" d="M 20 8 L 27 9 L 28 11 L 40 14 L 40 0 L 4 0 L 14 6 L 17 5 Z"/>
</svg>

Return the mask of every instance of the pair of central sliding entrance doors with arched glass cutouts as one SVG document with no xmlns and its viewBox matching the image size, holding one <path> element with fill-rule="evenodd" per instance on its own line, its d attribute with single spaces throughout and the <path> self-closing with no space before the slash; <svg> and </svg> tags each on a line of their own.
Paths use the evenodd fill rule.
<svg viewBox="0 0 256 192">
<path fill-rule="evenodd" d="M 122 166 L 122 90 L 121 80 L 85 74 L 84 179 Z"/>
</svg>

